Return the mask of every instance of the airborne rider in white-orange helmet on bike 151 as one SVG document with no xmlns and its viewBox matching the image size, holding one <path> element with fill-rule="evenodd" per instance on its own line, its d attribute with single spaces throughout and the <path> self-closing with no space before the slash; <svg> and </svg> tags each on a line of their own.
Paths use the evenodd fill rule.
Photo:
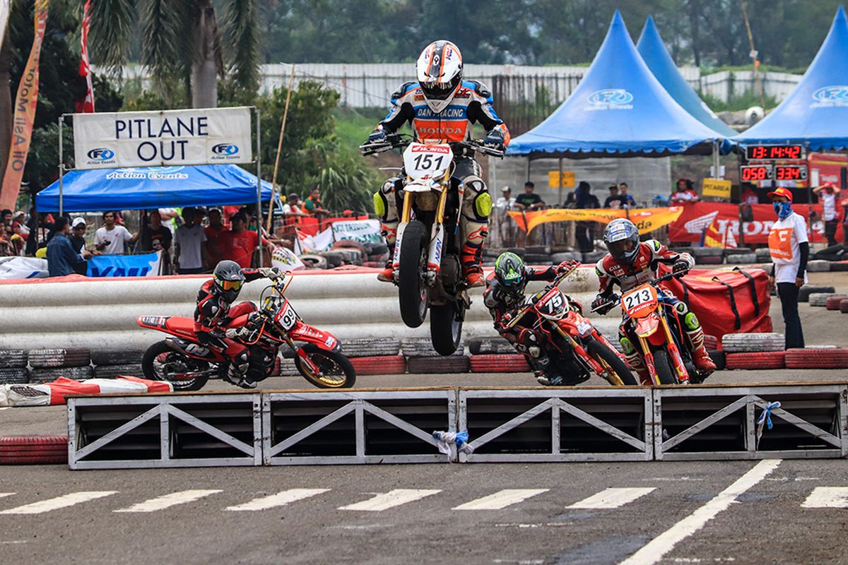
<svg viewBox="0 0 848 565">
<path fill-rule="evenodd" d="M 368 136 L 368 143 L 386 141 L 407 122 L 416 141 L 447 142 L 471 139 L 474 124 L 488 131 L 483 144 L 503 149 L 510 132 L 492 107 L 492 93 L 476 80 L 463 80 L 462 55 L 451 42 L 440 40 L 428 45 L 416 63 L 416 82 L 407 82 L 392 95 L 392 109 Z M 463 237 L 461 262 L 468 286 L 483 285 L 483 241 L 488 235 L 488 215 L 492 198 L 480 177 L 480 165 L 473 153 L 455 160 L 454 176 L 460 184 L 460 230 Z M 377 278 L 392 281 L 392 257 L 399 224 L 398 188 L 402 179 L 387 180 L 374 195 L 377 215 L 389 248 L 389 260 Z"/>
</svg>

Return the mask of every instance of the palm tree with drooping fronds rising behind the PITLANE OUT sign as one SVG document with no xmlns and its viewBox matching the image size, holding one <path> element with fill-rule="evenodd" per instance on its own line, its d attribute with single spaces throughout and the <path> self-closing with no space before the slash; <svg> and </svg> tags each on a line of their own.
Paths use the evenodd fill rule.
<svg viewBox="0 0 848 565">
<path fill-rule="evenodd" d="M 176 83 L 193 108 L 215 108 L 219 76 L 250 91 L 258 85 L 257 3 L 226 0 L 221 33 L 212 0 L 92 0 L 92 63 L 120 73 L 140 36 L 140 62 L 166 99 Z"/>
</svg>

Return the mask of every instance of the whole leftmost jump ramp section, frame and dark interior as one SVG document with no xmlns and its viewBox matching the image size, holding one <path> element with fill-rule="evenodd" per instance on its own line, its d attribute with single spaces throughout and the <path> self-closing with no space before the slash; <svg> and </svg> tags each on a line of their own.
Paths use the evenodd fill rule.
<svg viewBox="0 0 848 565">
<path fill-rule="evenodd" d="M 261 465 L 259 394 L 70 396 L 72 469 Z"/>
</svg>

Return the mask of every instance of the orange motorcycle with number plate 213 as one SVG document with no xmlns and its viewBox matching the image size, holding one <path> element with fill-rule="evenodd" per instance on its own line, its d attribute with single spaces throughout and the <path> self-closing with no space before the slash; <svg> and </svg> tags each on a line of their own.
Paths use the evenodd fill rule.
<svg viewBox="0 0 848 565">
<path fill-rule="evenodd" d="M 695 368 L 689 348 L 685 345 L 683 320 L 678 319 L 674 307 L 665 303 L 665 291 L 659 288 L 661 282 L 678 275 L 664 274 L 622 292 L 622 296 L 612 295 L 593 310 L 604 310 L 621 302 L 622 332 L 636 336 L 637 342 L 633 345 L 644 358 L 645 367 L 655 385 L 700 383 L 709 376 Z"/>
</svg>

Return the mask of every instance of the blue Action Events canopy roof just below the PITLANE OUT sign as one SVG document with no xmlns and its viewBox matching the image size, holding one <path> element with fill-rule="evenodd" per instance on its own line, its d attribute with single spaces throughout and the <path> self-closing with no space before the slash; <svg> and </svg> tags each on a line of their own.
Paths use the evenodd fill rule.
<svg viewBox="0 0 848 565">
<path fill-rule="evenodd" d="M 262 181 L 262 200 L 271 200 Z M 64 174 L 63 212 L 138 210 L 256 202 L 256 175 L 233 164 L 75 169 Z M 59 212 L 59 180 L 36 195 L 39 212 Z"/>
</svg>

